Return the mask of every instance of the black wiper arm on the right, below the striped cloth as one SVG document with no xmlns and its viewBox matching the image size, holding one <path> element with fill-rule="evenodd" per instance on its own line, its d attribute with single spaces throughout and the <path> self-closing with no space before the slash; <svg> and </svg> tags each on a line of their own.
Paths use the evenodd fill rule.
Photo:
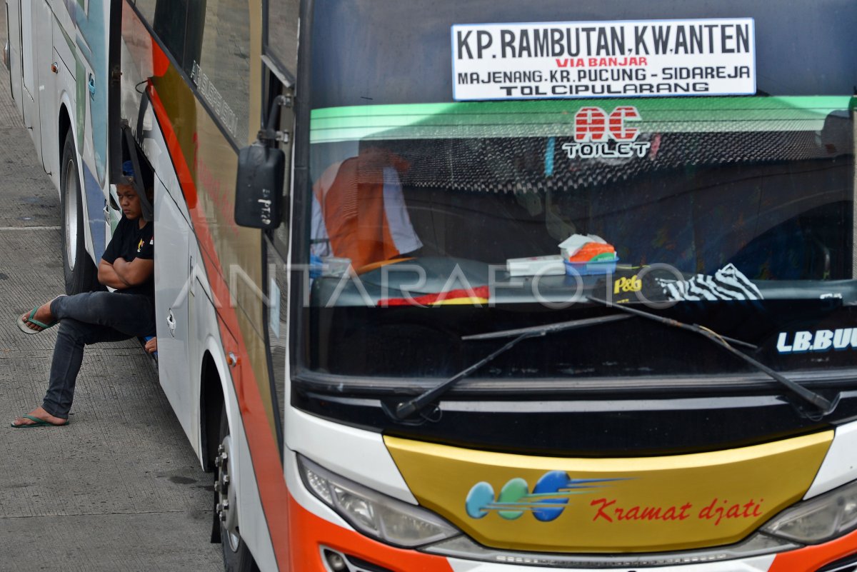
<svg viewBox="0 0 857 572">
<path fill-rule="evenodd" d="M 595 302 L 596 304 L 601 304 L 602 306 L 614 307 L 622 312 L 633 314 L 635 316 L 640 316 L 641 318 L 654 320 L 656 322 L 660 322 L 661 324 L 671 325 L 682 330 L 688 330 L 698 333 L 700 336 L 703 336 L 711 342 L 716 343 L 718 346 L 727 349 L 728 352 L 732 355 L 735 355 L 741 360 L 746 361 L 746 363 L 755 367 L 756 369 L 758 369 L 758 371 L 763 372 L 770 378 L 776 379 L 776 381 L 785 385 L 795 395 L 800 396 L 805 401 L 810 402 L 812 403 L 812 405 L 816 406 L 819 409 L 817 414 L 808 414 L 798 408 L 800 414 L 804 414 L 806 415 L 806 417 L 812 420 L 818 420 L 826 415 L 833 413 L 833 410 L 836 409 L 837 405 L 839 405 L 839 399 L 840 397 L 842 397 L 841 394 L 837 393 L 836 397 L 833 398 L 833 401 L 830 401 L 826 397 L 821 396 L 815 391 L 812 391 L 804 387 L 803 385 L 785 377 L 781 373 L 775 372 L 770 367 L 765 366 L 764 363 L 762 363 L 761 361 L 754 360 L 752 357 L 746 355 L 744 352 L 740 351 L 740 349 L 734 348 L 732 345 L 735 344 L 750 349 L 758 349 L 758 347 L 754 346 L 752 343 L 746 343 L 731 337 L 721 336 L 716 331 L 711 331 L 710 329 L 698 324 L 685 324 L 684 322 L 680 322 L 676 319 L 664 318 L 663 316 L 658 316 L 655 313 L 644 312 L 643 310 L 639 310 L 638 308 L 634 307 L 629 307 L 624 304 L 613 304 L 606 300 L 600 300 L 592 296 L 587 296 L 587 300 Z"/>
</svg>

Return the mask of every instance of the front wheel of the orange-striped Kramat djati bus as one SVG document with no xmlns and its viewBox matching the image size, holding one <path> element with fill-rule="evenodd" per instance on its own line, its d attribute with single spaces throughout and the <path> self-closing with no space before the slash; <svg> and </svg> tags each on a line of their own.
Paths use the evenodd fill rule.
<svg viewBox="0 0 857 572">
<path fill-rule="evenodd" d="M 233 485 L 234 457 L 226 409 L 220 412 L 220 445 L 214 458 L 217 480 L 214 482 L 214 511 L 220 522 L 220 543 L 226 572 L 257 572 L 253 556 L 238 532 L 238 503 Z"/>
</svg>

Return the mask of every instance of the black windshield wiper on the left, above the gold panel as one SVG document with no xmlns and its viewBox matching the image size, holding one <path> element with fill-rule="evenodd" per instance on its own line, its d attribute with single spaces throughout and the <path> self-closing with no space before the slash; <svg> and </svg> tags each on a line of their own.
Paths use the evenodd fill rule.
<svg viewBox="0 0 857 572">
<path fill-rule="evenodd" d="M 408 401 L 400 402 L 398 405 L 396 405 L 395 409 L 388 408 L 387 405 L 384 405 L 384 410 L 387 412 L 387 414 L 391 415 L 393 419 L 407 419 L 411 415 L 421 411 L 426 405 L 433 402 L 438 397 L 445 394 L 446 391 L 451 390 L 452 387 L 458 383 L 458 381 L 466 378 L 470 375 L 470 373 L 475 372 L 477 369 L 484 366 L 489 361 L 494 360 L 494 358 L 498 355 L 504 354 L 509 349 L 512 349 L 518 342 L 525 340 L 529 337 L 542 337 L 548 334 L 553 334 L 557 331 L 573 330 L 575 328 L 584 328 L 590 325 L 597 324 L 607 324 L 608 322 L 616 322 L 621 319 L 628 319 L 630 317 L 631 316 L 625 316 L 622 314 L 614 314 L 607 316 L 599 316 L 597 318 L 574 319 L 569 322 L 557 322 L 554 324 L 547 325 L 535 325 L 529 328 L 518 328 L 516 330 L 492 331 L 486 334 L 463 336 L 461 337 L 461 339 L 465 342 L 470 340 L 490 340 L 500 337 L 512 336 L 514 336 L 514 338 L 512 339 L 512 341 L 506 343 L 506 345 L 500 347 L 499 349 L 495 349 L 493 352 L 483 357 L 482 360 L 476 361 L 476 363 L 474 363 L 472 366 L 468 366 L 467 368 L 461 370 L 460 372 L 453 375 L 451 378 L 446 379 L 446 381 L 437 384 L 432 389 L 423 391 L 423 393 L 412 399 L 409 399 Z"/>
</svg>

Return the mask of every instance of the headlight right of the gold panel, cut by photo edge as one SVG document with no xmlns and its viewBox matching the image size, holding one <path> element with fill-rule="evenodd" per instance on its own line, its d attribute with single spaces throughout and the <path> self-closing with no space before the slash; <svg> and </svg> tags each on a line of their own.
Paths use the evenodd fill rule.
<svg viewBox="0 0 857 572">
<path fill-rule="evenodd" d="M 762 527 L 765 533 L 818 544 L 857 528 L 857 480 L 797 503 Z"/>
</svg>

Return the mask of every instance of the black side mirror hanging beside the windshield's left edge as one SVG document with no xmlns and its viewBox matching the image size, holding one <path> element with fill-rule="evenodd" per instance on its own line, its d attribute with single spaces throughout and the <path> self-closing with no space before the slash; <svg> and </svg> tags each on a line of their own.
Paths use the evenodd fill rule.
<svg viewBox="0 0 857 572">
<path fill-rule="evenodd" d="M 276 229 L 281 220 L 285 153 L 259 141 L 238 152 L 235 222 L 252 229 Z"/>
</svg>

